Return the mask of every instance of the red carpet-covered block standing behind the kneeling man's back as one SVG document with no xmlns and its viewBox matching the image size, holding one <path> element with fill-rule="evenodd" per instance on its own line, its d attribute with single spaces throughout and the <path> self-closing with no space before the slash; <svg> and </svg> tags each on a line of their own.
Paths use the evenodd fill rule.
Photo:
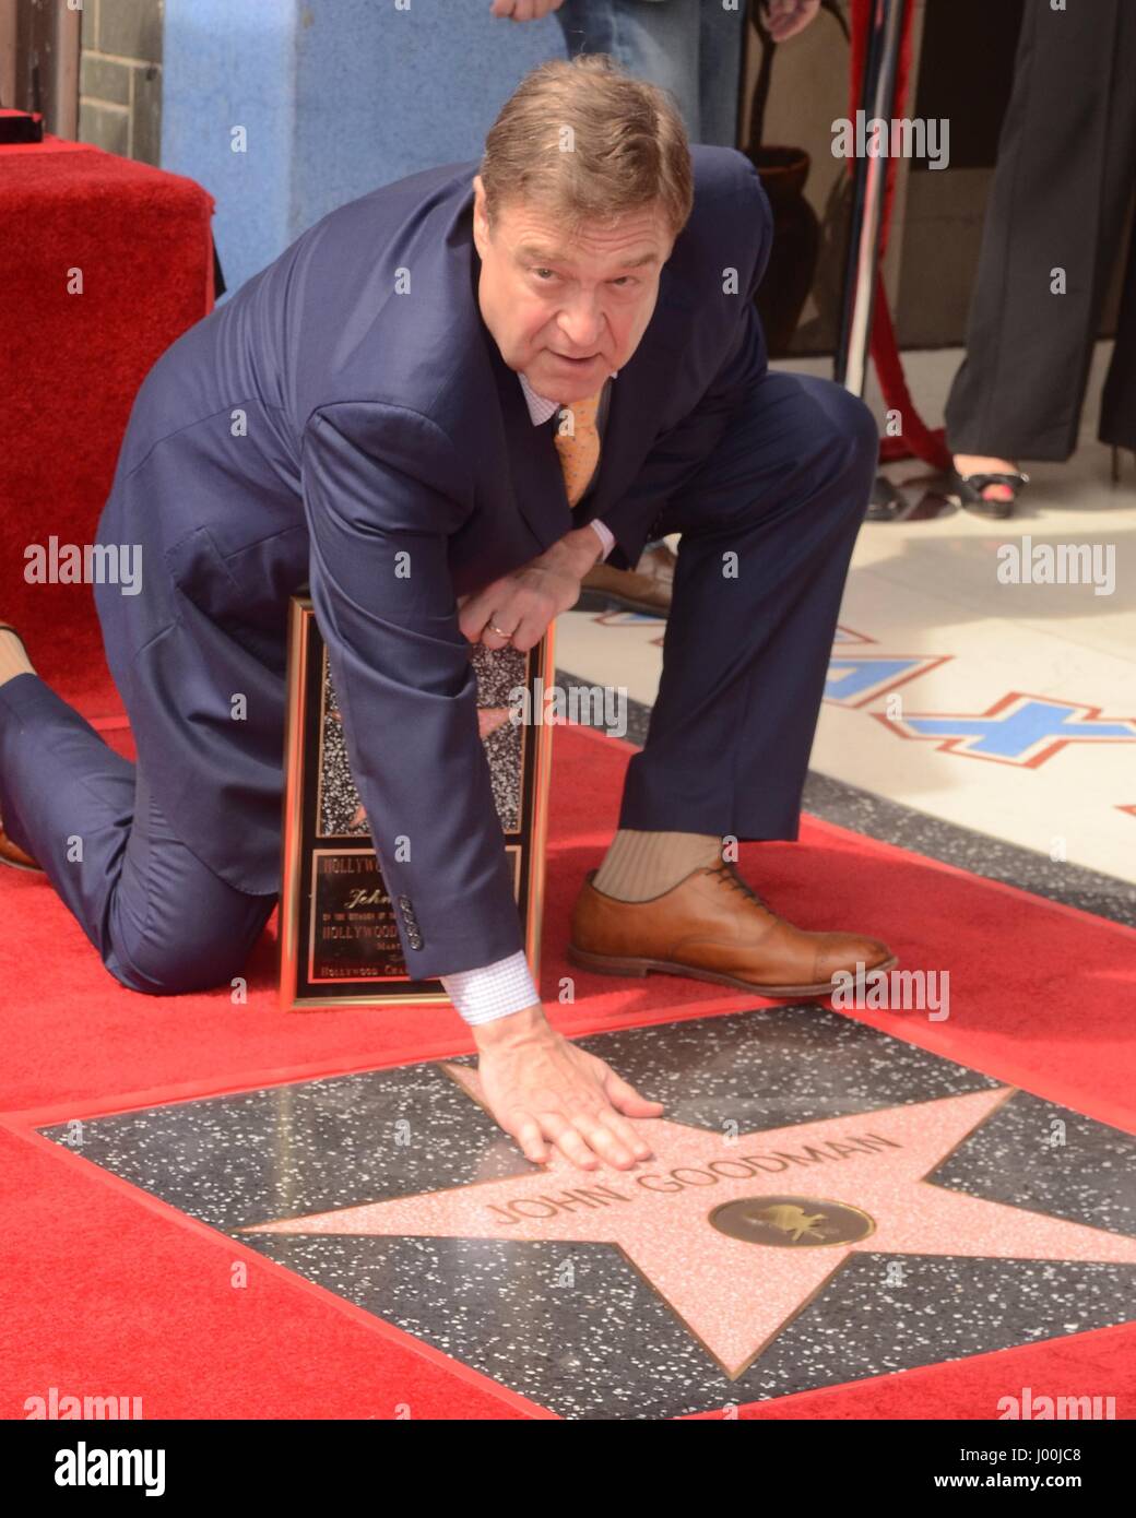
<svg viewBox="0 0 1136 1518">
<path fill-rule="evenodd" d="M 0 619 L 77 697 L 108 680 L 93 597 L 26 581 L 24 551 L 91 542 L 138 386 L 213 308 L 211 216 L 191 179 L 99 147 L 0 146 Z"/>
</svg>

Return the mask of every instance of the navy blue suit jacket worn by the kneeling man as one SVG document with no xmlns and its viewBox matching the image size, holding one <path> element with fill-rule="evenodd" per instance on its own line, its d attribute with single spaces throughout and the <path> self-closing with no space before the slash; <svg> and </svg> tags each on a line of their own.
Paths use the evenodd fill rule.
<svg viewBox="0 0 1136 1518">
<path fill-rule="evenodd" d="M 97 540 L 141 545 L 143 589 L 96 597 L 153 794 L 222 879 L 279 888 L 287 607 L 310 586 L 383 873 L 418 920 L 421 947 L 399 918 L 416 976 L 522 947 L 456 597 L 592 516 L 633 566 L 764 373 L 768 203 L 741 153 L 693 158 L 694 213 L 576 515 L 554 422 L 533 427 L 478 311 L 477 162 L 323 217 L 135 399 Z"/>
</svg>

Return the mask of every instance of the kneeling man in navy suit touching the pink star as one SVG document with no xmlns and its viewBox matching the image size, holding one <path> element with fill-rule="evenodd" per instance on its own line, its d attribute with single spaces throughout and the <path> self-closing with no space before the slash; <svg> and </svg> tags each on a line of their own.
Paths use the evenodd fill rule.
<svg viewBox="0 0 1136 1518">
<path fill-rule="evenodd" d="M 630 1119 L 661 1105 L 562 1038 L 529 975 L 469 648 L 532 648 L 598 557 L 633 568 L 665 533 L 662 682 L 573 961 L 762 996 L 890 968 L 779 918 L 723 850 L 797 836 L 876 461 L 863 402 L 767 369 L 770 235 L 741 153 L 691 150 L 603 55 L 556 61 L 480 164 L 340 206 L 166 351 L 97 534 L 141 548 L 141 594 L 96 586 L 137 767 L 0 631 L 0 852 L 111 975 L 220 985 L 260 935 L 307 584 L 407 965 L 474 1025 L 494 1116 L 535 1161 L 645 1158 Z"/>
</svg>

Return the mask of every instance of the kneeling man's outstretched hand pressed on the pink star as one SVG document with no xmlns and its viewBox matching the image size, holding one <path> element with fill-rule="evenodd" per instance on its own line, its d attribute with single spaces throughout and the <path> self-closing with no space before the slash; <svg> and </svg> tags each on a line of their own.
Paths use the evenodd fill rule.
<svg viewBox="0 0 1136 1518">
<path fill-rule="evenodd" d="M 538 1003 L 474 1029 L 481 1094 L 495 1122 L 544 1164 L 553 1145 L 571 1164 L 594 1170 L 604 1160 L 629 1170 L 652 1148 L 629 1117 L 659 1117 L 609 1064 L 563 1038 Z"/>
</svg>

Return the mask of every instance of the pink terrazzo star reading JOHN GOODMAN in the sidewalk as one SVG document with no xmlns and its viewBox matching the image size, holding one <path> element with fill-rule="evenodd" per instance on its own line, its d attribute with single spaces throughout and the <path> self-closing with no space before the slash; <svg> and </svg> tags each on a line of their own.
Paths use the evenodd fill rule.
<svg viewBox="0 0 1136 1518">
<path fill-rule="evenodd" d="M 445 1066 L 480 1101 L 475 1072 Z M 1007 1096 L 1002 1087 L 772 1128 L 727 1142 L 667 1119 L 638 1123 L 655 1158 L 633 1170 L 544 1170 L 245 1233 L 533 1239 L 615 1245 L 735 1380 L 849 1255 L 986 1255 L 1136 1263 L 1136 1239 L 986 1202 L 923 1179 Z M 726 1217 L 778 1242 L 731 1237 Z M 852 1214 L 826 1213 L 837 1204 Z M 726 1222 L 720 1213 L 720 1222 Z M 863 1234 L 841 1242 L 840 1234 Z M 826 1242 L 834 1239 L 834 1242 Z"/>
</svg>

